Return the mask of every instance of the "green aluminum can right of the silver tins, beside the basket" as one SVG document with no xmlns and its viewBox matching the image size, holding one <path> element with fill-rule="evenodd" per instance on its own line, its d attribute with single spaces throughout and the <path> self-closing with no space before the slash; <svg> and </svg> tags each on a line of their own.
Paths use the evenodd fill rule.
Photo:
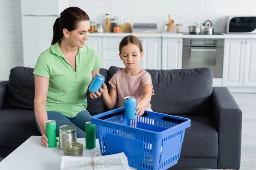
<svg viewBox="0 0 256 170">
<path fill-rule="evenodd" d="M 96 125 L 91 122 L 85 123 L 85 147 L 87 149 L 96 147 Z"/>
</svg>

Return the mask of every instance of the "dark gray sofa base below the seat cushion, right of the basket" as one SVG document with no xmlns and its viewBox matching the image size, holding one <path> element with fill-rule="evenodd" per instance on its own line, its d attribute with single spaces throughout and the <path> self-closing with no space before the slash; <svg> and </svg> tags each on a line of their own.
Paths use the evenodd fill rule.
<svg viewBox="0 0 256 170">
<path fill-rule="evenodd" d="M 217 169 L 217 159 L 218 158 L 187 158 L 180 157 L 178 163 L 168 170 L 183 170 L 183 168 L 209 168 Z"/>
</svg>

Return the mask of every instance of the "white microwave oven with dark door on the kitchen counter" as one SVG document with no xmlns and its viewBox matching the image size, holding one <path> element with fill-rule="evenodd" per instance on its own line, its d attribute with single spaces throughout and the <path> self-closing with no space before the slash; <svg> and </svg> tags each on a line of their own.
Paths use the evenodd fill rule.
<svg viewBox="0 0 256 170">
<path fill-rule="evenodd" d="M 256 34 L 256 16 L 226 16 L 227 34 Z"/>
</svg>

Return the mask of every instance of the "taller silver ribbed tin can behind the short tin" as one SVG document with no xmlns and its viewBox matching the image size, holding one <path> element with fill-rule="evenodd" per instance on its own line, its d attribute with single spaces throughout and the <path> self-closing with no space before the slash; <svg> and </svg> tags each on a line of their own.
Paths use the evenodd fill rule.
<svg viewBox="0 0 256 170">
<path fill-rule="evenodd" d="M 64 150 L 64 145 L 76 142 L 76 126 L 63 125 L 59 127 L 59 148 Z"/>
</svg>

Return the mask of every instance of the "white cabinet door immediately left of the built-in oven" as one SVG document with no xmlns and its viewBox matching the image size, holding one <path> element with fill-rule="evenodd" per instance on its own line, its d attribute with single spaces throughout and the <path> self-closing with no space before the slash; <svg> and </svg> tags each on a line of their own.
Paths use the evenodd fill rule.
<svg viewBox="0 0 256 170">
<path fill-rule="evenodd" d="M 182 38 L 163 38 L 162 69 L 180 69 L 182 67 Z"/>
</svg>

